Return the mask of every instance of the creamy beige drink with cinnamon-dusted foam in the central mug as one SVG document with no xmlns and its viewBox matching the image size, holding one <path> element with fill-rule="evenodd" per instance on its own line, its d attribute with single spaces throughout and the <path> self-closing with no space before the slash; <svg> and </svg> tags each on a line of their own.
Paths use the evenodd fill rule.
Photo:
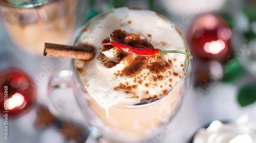
<svg viewBox="0 0 256 143">
<path fill-rule="evenodd" d="M 156 134 L 170 129 L 180 106 L 189 57 L 142 57 L 101 43 L 188 53 L 183 36 L 160 14 L 129 8 L 101 14 L 84 27 L 75 45 L 94 46 L 95 56 L 88 61 L 73 59 L 72 66 L 84 90 L 83 96 L 76 93 L 79 89 L 75 93 L 87 121 L 109 142 L 155 142 Z"/>
</svg>

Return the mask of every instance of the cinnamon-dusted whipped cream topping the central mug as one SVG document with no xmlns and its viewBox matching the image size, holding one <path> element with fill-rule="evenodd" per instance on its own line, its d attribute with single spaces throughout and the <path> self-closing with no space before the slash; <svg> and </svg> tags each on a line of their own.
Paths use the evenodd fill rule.
<svg viewBox="0 0 256 143">
<path fill-rule="evenodd" d="M 136 34 L 155 49 L 188 52 L 187 45 L 173 22 L 149 10 L 118 8 L 95 18 L 83 30 L 80 42 L 95 46 L 89 61 L 77 60 L 80 79 L 90 96 L 106 111 L 113 105 L 135 105 L 159 100 L 176 89 L 186 75 L 189 58 L 183 54 L 164 54 L 145 58 L 120 51 L 102 51 L 102 40 L 114 30 Z M 131 38 L 131 37 L 130 37 Z M 126 37 L 129 39 L 129 36 Z M 113 61 L 113 65 L 105 65 Z M 186 63 L 185 63 L 186 62 Z"/>
</svg>

